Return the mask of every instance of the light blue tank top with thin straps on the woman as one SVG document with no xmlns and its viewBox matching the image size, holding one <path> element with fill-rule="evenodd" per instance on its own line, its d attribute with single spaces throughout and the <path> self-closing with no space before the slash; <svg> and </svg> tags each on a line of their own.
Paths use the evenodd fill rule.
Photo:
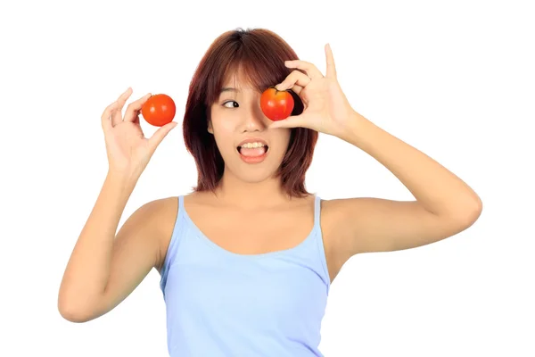
<svg viewBox="0 0 535 357">
<path fill-rule="evenodd" d="M 204 236 L 178 197 L 161 271 L 171 357 L 323 356 L 330 278 L 317 195 L 314 210 L 314 227 L 299 245 L 244 255 Z"/>
</svg>

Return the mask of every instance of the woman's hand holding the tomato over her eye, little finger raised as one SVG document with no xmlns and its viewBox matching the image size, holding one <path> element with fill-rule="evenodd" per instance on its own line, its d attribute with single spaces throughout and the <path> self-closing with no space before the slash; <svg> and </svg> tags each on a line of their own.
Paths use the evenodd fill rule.
<svg viewBox="0 0 535 357">
<path fill-rule="evenodd" d="M 304 109 L 300 115 L 274 121 L 269 128 L 309 128 L 319 132 L 347 139 L 350 130 L 355 129 L 360 115 L 353 110 L 336 79 L 336 69 L 331 46 L 325 45 L 325 76 L 317 67 L 300 60 L 286 61 L 288 68 L 305 71 L 292 71 L 278 90 L 292 89 L 300 96 Z"/>
</svg>

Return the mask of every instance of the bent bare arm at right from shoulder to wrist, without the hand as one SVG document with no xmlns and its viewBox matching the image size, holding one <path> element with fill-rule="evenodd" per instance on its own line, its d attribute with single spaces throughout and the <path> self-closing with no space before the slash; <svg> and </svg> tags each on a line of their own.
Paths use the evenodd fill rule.
<svg viewBox="0 0 535 357">
<path fill-rule="evenodd" d="M 339 261 L 356 253 L 388 252 L 429 245 L 472 226 L 480 197 L 440 163 L 361 116 L 351 144 L 382 163 L 415 201 L 350 198 L 326 204 L 336 212 Z"/>
</svg>

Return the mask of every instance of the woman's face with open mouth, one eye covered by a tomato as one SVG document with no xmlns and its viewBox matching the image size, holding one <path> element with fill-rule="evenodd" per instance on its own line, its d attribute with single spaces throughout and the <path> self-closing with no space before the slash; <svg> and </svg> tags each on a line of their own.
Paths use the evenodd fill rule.
<svg viewBox="0 0 535 357">
<path fill-rule="evenodd" d="M 291 129 L 268 129 L 260 93 L 239 77 L 227 80 L 210 108 L 208 131 L 225 162 L 225 174 L 245 182 L 271 179 L 283 161 Z"/>
</svg>

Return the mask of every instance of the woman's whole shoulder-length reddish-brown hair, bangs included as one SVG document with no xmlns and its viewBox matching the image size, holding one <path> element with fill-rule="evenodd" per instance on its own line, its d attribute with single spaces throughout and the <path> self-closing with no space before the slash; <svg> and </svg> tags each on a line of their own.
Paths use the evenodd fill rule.
<svg viewBox="0 0 535 357">
<path fill-rule="evenodd" d="M 183 132 L 185 146 L 197 165 L 195 191 L 214 191 L 223 176 L 225 164 L 214 137 L 208 132 L 210 105 L 217 101 L 229 73 L 243 71 L 261 93 L 290 74 L 285 60 L 297 60 L 290 46 L 268 29 L 235 29 L 220 35 L 202 57 L 189 87 L 185 104 Z M 298 95 L 292 92 L 292 115 L 303 110 Z M 290 196 L 308 195 L 305 173 L 309 170 L 317 143 L 317 131 L 293 128 L 290 143 L 277 172 L 284 191 Z"/>
</svg>

